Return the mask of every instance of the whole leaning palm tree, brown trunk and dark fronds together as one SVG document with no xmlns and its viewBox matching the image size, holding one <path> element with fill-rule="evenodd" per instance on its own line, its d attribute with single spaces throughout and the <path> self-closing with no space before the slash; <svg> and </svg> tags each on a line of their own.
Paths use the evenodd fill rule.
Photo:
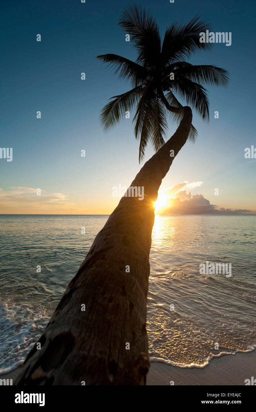
<svg viewBox="0 0 256 412">
<path fill-rule="evenodd" d="M 143 385 L 149 370 L 146 330 L 149 252 L 154 225 L 154 202 L 174 157 L 196 131 L 192 111 L 209 119 L 204 82 L 226 86 L 228 77 L 215 66 L 192 66 L 183 61 L 207 49 L 199 33 L 208 28 L 195 17 L 186 26 L 173 24 L 163 44 L 154 19 L 140 7 L 128 7 L 119 24 L 138 51 L 134 63 L 113 54 L 98 56 L 114 65 L 133 89 L 102 110 L 102 124 L 114 126 L 135 104 L 135 136 L 140 136 L 140 159 L 149 140 L 157 153 L 149 159 L 131 186 L 144 187 L 144 200 L 122 197 L 96 236 L 76 276 L 67 286 L 47 328 L 28 354 L 19 385 Z M 174 80 L 170 81 L 170 73 Z M 171 89 L 172 90 L 171 90 Z M 168 91 L 165 96 L 164 92 Z M 175 93 L 173 93 L 175 92 Z M 167 109 L 180 121 L 164 144 Z M 81 311 L 81 307 L 85 310 Z"/>
</svg>

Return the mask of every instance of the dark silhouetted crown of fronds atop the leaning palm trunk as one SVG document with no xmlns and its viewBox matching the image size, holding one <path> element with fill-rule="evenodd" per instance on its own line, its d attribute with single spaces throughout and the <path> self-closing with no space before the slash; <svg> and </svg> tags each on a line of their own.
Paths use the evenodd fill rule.
<svg viewBox="0 0 256 412">
<path fill-rule="evenodd" d="M 120 78 L 130 80 L 132 89 L 112 97 L 102 109 L 100 120 L 106 131 L 116 126 L 127 111 L 136 108 L 134 133 L 140 138 L 139 160 L 142 160 L 149 141 L 155 151 L 165 143 L 166 109 L 170 118 L 179 123 L 182 111 L 177 108 L 182 104 L 177 97 L 186 101 L 203 120 L 209 121 L 209 100 L 202 84 L 226 87 L 228 72 L 216 66 L 194 66 L 185 61 L 191 54 L 212 46 L 199 41 L 200 32 L 211 31 L 199 16 L 184 26 L 173 23 L 166 30 L 163 41 L 155 19 L 141 7 L 128 6 L 118 24 L 130 35 L 137 50 L 136 62 L 116 54 L 104 54 L 97 59 L 113 67 Z M 194 142 L 196 136 L 197 131 L 191 125 L 189 140 Z"/>
</svg>

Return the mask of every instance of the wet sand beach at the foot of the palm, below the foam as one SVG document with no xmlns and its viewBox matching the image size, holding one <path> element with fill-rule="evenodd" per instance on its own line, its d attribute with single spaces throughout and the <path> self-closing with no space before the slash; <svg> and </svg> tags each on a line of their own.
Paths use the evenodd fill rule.
<svg viewBox="0 0 256 412">
<path fill-rule="evenodd" d="M 12 372 L 0 375 L 0 379 L 16 379 L 21 372 L 19 366 Z M 166 363 L 151 362 L 147 374 L 147 386 L 212 385 L 244 386 L 245 379 L 256 375 L 256 351 L 214 358 L 205 368 L 179 368 Z"/>
</svg>

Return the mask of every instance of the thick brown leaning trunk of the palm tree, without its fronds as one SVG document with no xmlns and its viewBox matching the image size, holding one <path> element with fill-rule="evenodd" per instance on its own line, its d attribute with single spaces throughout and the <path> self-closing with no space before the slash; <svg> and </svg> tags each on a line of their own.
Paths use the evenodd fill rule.
<svg viewBox="0 0 256 412">
<path fill-rule="evenodd" d="M 154 204 L 162 179 L 185 144 L 192 112 L 145 163 L 131 186 L 144 200 L 122 197 L 44 334 L 23 366 L 20 385 L 144 385 L 149 370 L 146 330 L 149 252 Z M 130 272 L 128 272 L 128 267 Z M 82 311 L 82 305 L 85 311 Z M 129 348 L 129 349 L 128 349 Z"/>
</svg>

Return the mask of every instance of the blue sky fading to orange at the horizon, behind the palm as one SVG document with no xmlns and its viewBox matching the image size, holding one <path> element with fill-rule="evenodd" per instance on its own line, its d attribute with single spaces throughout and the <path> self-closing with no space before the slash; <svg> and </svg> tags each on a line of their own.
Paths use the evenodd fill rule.
<svg viewBox="0 0 256 412">
<path fill-rule="evenodd" d="M 99 122 L 109 98 L 130 89 L 129 82 L 95 59 L 113 53 L 135 61 L 135 50 L 117 25 L 128 4 L 3 2 L 0 147 L 12 148 L 12 161 L 0 158 L 0 213 L 110 214 L 119 202 L 112 188 L 128 187 L 143 166 L 133 114 L 108 133 Z M 137 4 L 154 14 L 162 36 L 173 21 L 187 23 L 198 13 L 214 32 L 232 33 L 231 46 L 215 43 L 210 52 L 189 59 L 228 70 L 230 84 L 228 89 L 206 87 L 210 122 L 193 112 L 198 138 L 195 144 L 186 142 L 174 159 L 156 212 L 256 213 L 256 159 L 244 157 L 245 148 L 256 148 L 255 3 Z M 175 130 L 169 123 L 168 136 Z M 144 161 L 153 154 L 148 146 Z"/>
</svg>

